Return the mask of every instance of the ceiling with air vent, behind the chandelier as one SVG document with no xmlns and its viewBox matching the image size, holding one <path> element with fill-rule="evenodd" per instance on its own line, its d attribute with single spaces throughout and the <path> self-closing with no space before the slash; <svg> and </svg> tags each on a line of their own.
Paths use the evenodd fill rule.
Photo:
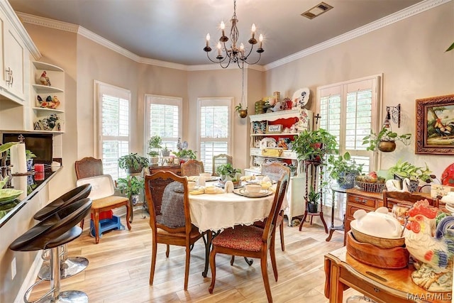
<svg viewBox="0 0 454 303">
<path fill-rule="evenodd" d="M 250 26 L 265 36 L 260 65 L 282 59 L 421 0 L 323 0 L 334 9 L 309 20 L 300 16 L 319 0 L 238 0 L 239 41 L 249 45 Z M 209 63 L 224 21 L 228 31 L 233 0 L 9 0 L 17 12 L 77 24 L 140 57 L 183 65 Z M 226 35 L 228 35 L 226 31 Z M 216 42 L 215 42 L 216 41 Z M 211 51 L 214 54 L 214 51 Z M 216 55 L 216 54 L 214 54 Z"/>
</svg>

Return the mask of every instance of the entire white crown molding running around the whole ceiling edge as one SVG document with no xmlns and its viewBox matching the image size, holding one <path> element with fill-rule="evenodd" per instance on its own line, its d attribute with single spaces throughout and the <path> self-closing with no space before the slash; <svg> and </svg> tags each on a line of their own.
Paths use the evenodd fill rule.
<svg viewBox="0 0 454 303">
<path fill-rule="evenodd" d="M 311 48 L 306 48 L 304 50 L 299 51 L 298 53 L 294 53 L 294 54 L 284 57 L 282 59 L 276 60 L 275 62 L 271 62 L 270 64 L 245 65 L 245 68 L 251 69 L 251 70 L 258 70 L 260 72 L 265 72 L 267 70 L 271 70 L 272 68 L 279 67 L 281 65 L 285 65 L 289 62 L 293 62 L 294 60 L 299 60 L 302 57 L 306 57 L 308 55 L 320 52 L 321 50 L 326 50 L 327 48 L 331 48 L 334 45 L 338 45 L 338 44 L 344 43 L 348 40 L 358 38 L 361 35 L 365 35 L 372 31 L 376 31 L 380 28 L 383 28 L 384 26 L 389 26 L 392 23 L 401 21 L 405 18 L 409 18 L 418 13 L 422 13 L 423 11 L 427 11 L 428 9 L 433 9 L 436 6 L 448 3 L 450 1 L 452 1 L 452 0 L 421 1 L 418 4 L 414 4 L 413 6 L 403 9 L 402 11 L 398 11 L 397 13 L 392 13 L 391 15 L 381 18 L 380 20 L 374 21 L 374 22 L 369 23 L 360 28 L 356 28 L 355 30 L 349 31 L 348 33 L 344 33 L 343 35 L 338 35 L 335 38 L 326 40 L 323 43 L 314 45 Z M 0 1 L 0 5 L 4 6 L 4 1 Z M 9 6 L 9 4 L 8 4 L 8 6 Z M 9 6 L 9 9 L 12 11 L 11 6 Z M 116 53 L 119 53 L 125 57 L 128 57 L 129 59 L 134 60 L 135 62 L 148 64 L 148 65 L 155 65 L 155 66 L 160 66 L 160 67 L 168 67 L 168 68 L 172 68 L 172 69 L 176 69 L 176 70 L 186 70 L 186 71 L 223 70 L 223 68 L 220 65 L 215 65 L 215 64 L 182 65 L 182 64 L 178 64 L 178 63 L 174 63 L 174 62 L 166 62 L 166 61 L 160 61 L 160 60 L 140 57 L 138 55 L 135 55 L 134 53 L 131 53 L 129 50 L 126 50 L 125 48 L 121 48 L 120 46 L 116 45 L 115 43 L 112 43 L 111 41 L 107 40 L 106 38 L 103 38 L 100 35 L 96 35 L 96 33 L 93 33 L 92 31 L 89 31 L 86 28 L 83 28 L 82 26 L 77 26 L 77 25 L 74 25 L 71 23 L 65 23 L 65 22 L 61 22 L 61 21 L 55 21 L 55 20 L 52 20 L 49 18 L 33 16 L 28 13 L 16 12 L 16 14 L 19 16 L 19 18 L 21 18 L 21 21 L 23 21 L 24 23 L 31 23 L 31 24 L 35 24 L 37 26 L 45 26 L 48 28 L 55 28 L 60 31 L 70 31 L 72 33 L 78 33 L 79 35 L 82 35 L 85 38 L 94 41 L 95 43 L 99 43 L 100 45 L 103 45 L 104 47 L 109 48 L 110 50 L 114 50 Z M 25 29 L 23 29 L 23 31 L 25 32 Z M 39 51 L 38 51 L 38 54 L 39 54 Z M 39 55 L 39 57 L 40 57 L 40 55 Z M 236 68 L 236 65 L 229 66 L 228 68 L 229 69 Z"/>
</svg>

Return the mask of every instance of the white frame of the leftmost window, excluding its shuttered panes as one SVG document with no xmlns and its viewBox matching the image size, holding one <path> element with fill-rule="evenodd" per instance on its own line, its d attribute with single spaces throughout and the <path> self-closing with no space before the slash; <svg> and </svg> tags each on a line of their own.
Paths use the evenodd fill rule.
<svg viewBox="0 0 454 303">
<path fill-rule="evenodd" d="M 122 87 L 116 87 L 111 84 L 94 80 L 94 155 L 96 158 L 102 159 L 103 153 L 103 141 L 104 140 L 116 140 L 125 141 L 123 136 L 103 136 L 102 135 L 102 96 L 103 94 L 116 97 L 119 99 L 128 100 L 128 149 L 131 148 L 131 91 Z M 129 150 L 128 150 L 129 152 Z M 118 170 L 119 176 L 121 176 L 120 170 Z"/>
</svg>

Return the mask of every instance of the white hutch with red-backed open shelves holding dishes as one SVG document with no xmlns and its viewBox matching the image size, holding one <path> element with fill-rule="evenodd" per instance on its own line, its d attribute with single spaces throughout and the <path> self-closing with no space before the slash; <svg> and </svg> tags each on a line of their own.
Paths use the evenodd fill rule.
<svg viewBox="0 0 454 303">
<path fill-rule="evenodd" d="M 263 163 L 281 162 L 284 165 L 296 165 L 297 175 L 290 178 L 287 189 L 289 206 L 284 214 L 289 219 L 304 214 L 304 196 L 306 175 L 303 166 L 292 151 L 292 141 L 299 132 L 311 130 L 313 114 L 306 109 L 292 109 L 250 117 L 250 168 L 245 175 L 260 173 Z"/>
</svg>

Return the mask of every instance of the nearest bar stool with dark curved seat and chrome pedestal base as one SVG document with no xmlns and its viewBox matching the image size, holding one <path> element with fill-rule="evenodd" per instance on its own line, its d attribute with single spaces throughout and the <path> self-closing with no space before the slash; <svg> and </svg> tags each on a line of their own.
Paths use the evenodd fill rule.
<svg viewBox="0 0 454 303">
<path fill-rule="evenodd" d="M 77 226 L 90 212 L 92 200 L 85 198 L 66 205 L 48 216 L 43 221 L 23 233 L 10 244 L 9 249 L 15 251 L 33 251 L 50 248 L 50 290 L 35 302 L 88 302 L 88 296 L 78 290 L 60 292 L 60 258 L 58 247 L 78 238 L 82 228 Z M 26 303 L 28 294 L 33 287 L 45 279 L 35 282 L 23 296 Z"/>
</svg>

